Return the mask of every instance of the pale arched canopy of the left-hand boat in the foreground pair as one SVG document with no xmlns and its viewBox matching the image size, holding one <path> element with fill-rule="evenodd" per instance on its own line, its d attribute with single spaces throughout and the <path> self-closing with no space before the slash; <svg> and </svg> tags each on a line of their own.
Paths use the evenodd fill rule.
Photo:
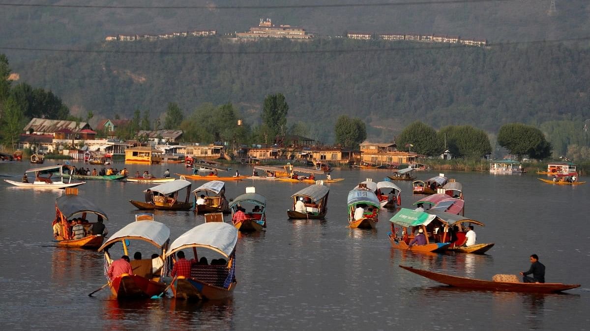
<svg viewBox="0 0 590 331">
<path fill-rule="evenodd" d="M 156 221 L 135 221 L 127 224 L 123 229 L 109 237 L 99 251 L 110 246 L 110 244 L 123 239 L 139 239 L 148 241 L 156 247 L 163 247 L 170 238 L 170 229 Z"/>
</svg>

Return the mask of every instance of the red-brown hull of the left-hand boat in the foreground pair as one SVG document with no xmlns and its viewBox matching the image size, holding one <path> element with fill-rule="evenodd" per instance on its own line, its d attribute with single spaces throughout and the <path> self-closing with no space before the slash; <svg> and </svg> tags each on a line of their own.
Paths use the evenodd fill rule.
<svg viewBox="0 0 590 331">
<path fill-rule="evenodd" d="M 158 296 L 166 289 L 166 284 L 154 282 L 135 274 L 122 274 L 109 284 L 111 293 L 117 299 L 142 299 Z"/>
</svg>

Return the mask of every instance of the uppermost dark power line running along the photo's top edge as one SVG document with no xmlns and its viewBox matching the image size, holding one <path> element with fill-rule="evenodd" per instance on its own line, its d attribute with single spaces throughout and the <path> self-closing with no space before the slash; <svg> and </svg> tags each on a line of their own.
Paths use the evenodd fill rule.
<svg viewBox="0 0 590 331">
<path fill-rule="evenodd" d="M 373 4 L 309 4 L 309 5 L 183 5 L 183 6 L 113 6 L 113 5 L 60 5 L 60 4 L 15 4 L 0 2 L 0 6 L 14 7 L 45 7 L 45 8 L 96 8 L 96 9 L 298 9 L 298 8 L 343 8 L 343 7 L 384 7 L 384 6 L 420 6 L 446 4 L 477 4 L 481 2 L 514 2 L 517 0 L 435 0 L 435 1 L 404 1 L 375 2 Z"/>
</svg>

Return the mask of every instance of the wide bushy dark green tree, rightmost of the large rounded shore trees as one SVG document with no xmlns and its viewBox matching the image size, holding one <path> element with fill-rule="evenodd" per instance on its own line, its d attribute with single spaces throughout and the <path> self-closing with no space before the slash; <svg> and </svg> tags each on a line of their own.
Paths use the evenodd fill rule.
<svg viewBox="0 0 590 331">
<path fill-rule="evenodd" d="M 502 125 L 498 131 L 498 144 L 519 158 L 529 155 L 530 158 L 543 159 L 549 157 L 552 150 L 539 129 L 521 123 Z"/>
</svg>

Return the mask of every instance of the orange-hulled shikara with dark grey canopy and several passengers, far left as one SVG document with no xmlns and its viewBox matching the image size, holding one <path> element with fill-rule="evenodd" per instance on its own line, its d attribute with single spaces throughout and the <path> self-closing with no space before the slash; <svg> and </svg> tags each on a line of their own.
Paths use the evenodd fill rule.
<svg viewBox="0 0 590 331">
<path fill-rule="evenodd" d="M 58 246 L 82 249 L 99 248 L 104 240 L 102 234 L 89 234 L 84 238 L 74 239 L 68 219 L 72 219 L 77 215 L 81 215 L 83 219 L 86 219 L 89 213 L 97 216 L 96 221 L 109 220 L 109 217 L 94 203 L 78 196 L 77 188 L 68 188 L 65 193 L 64 196 L 55 199 L 55 219 L 51 223 L 53 236 L 57 240 Z M 90 231 L 92 226 L 93 223 L 84 224 L 87 232 Z"/>
</svg>

